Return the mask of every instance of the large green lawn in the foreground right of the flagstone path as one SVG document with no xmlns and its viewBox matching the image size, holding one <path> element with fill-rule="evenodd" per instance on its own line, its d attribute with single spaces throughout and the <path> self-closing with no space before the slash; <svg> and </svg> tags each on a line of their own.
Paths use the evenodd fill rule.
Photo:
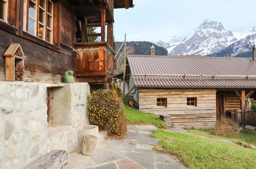
<svg viewBox="0 0 256 169">
<path fill-rule="evenodd" d="M 179 157 L 189 168 L 256 168 L 256 150 L 181 133 L 156 130 L 160 152 Z"/>
</svg>

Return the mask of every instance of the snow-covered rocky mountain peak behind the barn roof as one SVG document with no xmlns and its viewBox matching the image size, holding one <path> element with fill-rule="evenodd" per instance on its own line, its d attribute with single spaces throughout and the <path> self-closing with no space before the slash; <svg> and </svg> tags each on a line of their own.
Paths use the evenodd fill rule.
<svg viewBox="0 0 256 169">
<path fill-rule="evenodd" d="M 231 45 L 239 43 L 245 38 L 250 38 L 250 40 L 244 40 L 243 42 L 250 43 L 253 41 L 254 36 L 252 34 L 254 33 L 256 33 L 256 27 L 253 27 L 252 32 L 247 34 L 232 33 L 225 30 L 220 22 L 204 20 L 198 28 L 185 37 L 173 37 L 168 43 L 158 41 L 155 44 L 166 48 L 168 55 L 210 55 L 225 50 L 229 46 L 231 49 Z M 233 57 L 235 55 L 237 53 L 230 56 Z"/>
</svg>

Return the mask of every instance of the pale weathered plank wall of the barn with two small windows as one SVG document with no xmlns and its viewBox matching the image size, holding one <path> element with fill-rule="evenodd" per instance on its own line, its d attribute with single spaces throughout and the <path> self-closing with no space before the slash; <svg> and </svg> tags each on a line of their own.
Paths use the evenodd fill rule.
<svg viewBox="0 0 256 169">
<path fill-rule="evenodd" d="M 196 97 L 197 106 L 187 105 Z M 167 98 L 167 107 L 156 105 L 156 98 Z M 214 89 L 139 89 L 140 111 L 170 115 L 170 125 L 184 128 L 213 128 L 216 122 Z"/>
</svg>

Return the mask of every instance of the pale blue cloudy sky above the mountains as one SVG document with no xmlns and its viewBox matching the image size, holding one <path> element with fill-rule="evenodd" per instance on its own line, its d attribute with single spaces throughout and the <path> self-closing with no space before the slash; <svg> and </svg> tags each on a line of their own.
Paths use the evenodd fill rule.
<svg viewBox="0 0 256 169">
<path fill-rule="evenodd" d="M 184 36 L 205 19 L 226 30 L 249 32 L 256 26 L 255 0 L 133 0 L 134 8 L 115 9 L 116 41 L 169 41 Z"/>
</svg>

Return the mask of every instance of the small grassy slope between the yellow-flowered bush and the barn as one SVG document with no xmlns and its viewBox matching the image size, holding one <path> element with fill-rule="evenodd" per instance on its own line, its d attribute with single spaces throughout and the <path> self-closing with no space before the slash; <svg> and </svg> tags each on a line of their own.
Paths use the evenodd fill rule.
<svg viewBox="0 0 256 169">
<path fill-rule="evenodd" d="M 166 128 L 165 123 L 154 114 L 142 113 L 135 108 L 127 105 L 127 97 L 124 97 L 125 114 L 129 124 L 152 124 L 157 128 Z"/>
</svg>

